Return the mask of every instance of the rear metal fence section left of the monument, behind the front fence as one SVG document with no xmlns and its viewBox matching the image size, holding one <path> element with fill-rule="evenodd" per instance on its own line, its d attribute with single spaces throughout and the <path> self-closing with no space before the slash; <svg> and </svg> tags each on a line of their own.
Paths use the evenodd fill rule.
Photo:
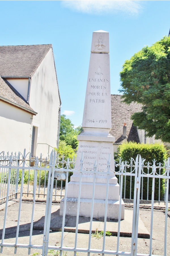
<svg viewBox="0 0 170 256">
<path fill-rule="evenodd" d="M 24 196 L 22 200 L 29 200 L 34 195 L 34 180 L 35 180 L 35 163 L 38 161 L 37 170 L 37 185 L 36 185 L 36 200 L 37 201 L 46 201 L 47 193 L 47 183 L 48 183 L 48 171 L 49 171 L 49 161 L 50 156 L 43 158 L 40 155 L 38 158 L 31 157 L 31 154 L 28 153 L 25 158 L 24 154 L 18 152 L 18 154 L 5 154 L 5 152 L 0 153 L 0 204 L 5 203 L 7 197 L 7 181 L 8 181 L 8 166 L 11 162 L 11 182 L 9 189 L 9 198 L 17 199 L 20 195 L 20 184 L 22 178 L 22 163 L 24 159 L 24 190 L 22 195 Z M 74 168 L 75 157 L 73 158 L 72 168 Z M 56 158 L 56 164 L 60 168 L 63 168 L 65 165 L 64 155 Z M 65 182 L 64 182 L 65 184 Z M 60 201 L 64 196 L 63 181 L 54 180 L 54 194 L 53 201 Z"/>
</svg>

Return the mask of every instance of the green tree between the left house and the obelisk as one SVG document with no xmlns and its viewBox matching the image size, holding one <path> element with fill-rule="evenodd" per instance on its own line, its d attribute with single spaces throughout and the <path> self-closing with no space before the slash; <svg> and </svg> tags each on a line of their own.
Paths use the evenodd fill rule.
<svg viewBox="0 0 170 256">
<path fill-rule="evenodd" d="M 71 145 L 73 149 L 78 146 L 77 135 L 82 131 L 82 127 L 78 126 L 74 129 L 74 125 L 69 118 L 61 115 L 59 139 L 65 141 L 67 145 Z"/>
</svg>

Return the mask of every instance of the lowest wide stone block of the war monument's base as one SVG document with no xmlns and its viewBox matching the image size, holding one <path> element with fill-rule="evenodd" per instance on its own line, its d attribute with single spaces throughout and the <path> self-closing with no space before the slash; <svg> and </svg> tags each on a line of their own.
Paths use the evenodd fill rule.
<svg viewBox="0 0 170 256">
<path fill-rule="evenodd" d="M 78 198 L 67 197 L 65 215 L 77 215 L 77 202 Z M 60 201 L 59 215 L 63 216 L 64 198 Z M 79 216 L 90 217 L 92 207 L 92 199 L 80 198 Z M 121 220 L 124 220 L 125 204 L 121 200 Z M 118 220 L 119 214 L 119 200 L 108 200 L 107 203 L 107 218 Z M 94 199 L 93 218 L 105 217 L 105 200 Z"/>
</svg>

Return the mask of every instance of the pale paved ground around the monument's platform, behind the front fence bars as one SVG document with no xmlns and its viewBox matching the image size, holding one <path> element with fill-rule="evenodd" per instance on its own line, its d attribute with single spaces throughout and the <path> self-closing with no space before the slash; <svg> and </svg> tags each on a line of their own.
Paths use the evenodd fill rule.
<svg viewBox="0 0 170 256">
<path fill-rule="evenodd" d="M 13 203 L 13 205 L 10 205 L 8 207 L 6 231 L 5 231 L 5 242 L 6 243 L 15 243 L 16 225 L 17 225 L 16 220 L 18 218 L 18 206 L 19 206 L 19 204 L 17 202 L 15 202 L 15 203 Z M 39 220 L 41 219 L 41 217 L 45 214 L 45 207 L 46 207 L 45 203 L 36 203 L 35 204 L 35 216 L 34 216 L 35 224 L 38 223 Z M 127 207 L 128 207 L 128 209 L 127 209 Z M 130 210 L 129 210 L 129 207 L 131 207 Z M 151 205 L 142 205 L 139 208 L 139 216 L 148 231 L 150 231 L 150 222 L 151 222 L 151 217 L 152 217 L 150 207 L 151 207 Z M 132 208 L 133 208 L 133 205 L 126 205 L 126 209 L 128 211 L 133 212 Z M 54 203 L 52 205 L 52 209 L 51 209 L 52 215 L 58 209 L 59 209 L 59 204 L 57 205 L 56 203 Z M 23 244 L 29 243 L 31 211 L 32 211 L 31 202 L 23 202 L 22 209 L 21 209 L 21 222 L 20 222 L 18 243 L 23 243 Z M 4 210 L 1 210 L 0 211 L 0 219 L 2 221 L 0 222 L 0 239 L 1 239 L 1 235 L 2 235 L 3 218 L 4 218 Z M 70 221 L 71 221 L 71 219 L 70 219 Z M 102 219 L 99 219 L 99 221 L 103 222 Z M 96 223 L 97 220 L 94 220 L 93 223 L 94 222 Z M 107 222 L 109 222 L 109 220 Z M 128 222 L 128 220 L 127 220 L 127 222 Z M 124 228 L 125 224 L 122 224 L 122 223 L 125 223 L 125 222 L 121 221 L 121 226 L 123 225 L 123 228 Z M 74 228 L 74 225 L 72 225 L 72 226 Z M 99 226 L 99 228 L 100 228 L 100 226 Z M 106 228 L 108 231 L 109 230 L 108 226 Z M 159 207 L 158 207 L 158 205 L 156 205 L 156 207 L 154 206 L 154 214 L 153 214 L 152 240 L 147 239 L 147 238 L 139 238 L 137 240 L 137 253 L 149 255 L 149 250 L 150 250 L 150 246 L 151 246 L 150 243 L 152 242 L 152 254 L 164 255 L 164 240 L 165 240 L 164 228 L 165 228 L 165 205 L 160 204 Z M 95 227 L 93 229 L 95 229 Z M 169 241 L 170 241 L 170 214 L 169 214 L 169 212 L 168 212 L 166 239 L 167 239 L 166 255 L 168 256 L 168 255 L 170 255 L 170 243 L 169 243 Z M 34 229 L 33 230 L 31 243 L 34 245 L 35 244 L 42 245 L 42 243 L 43 243 L 43 230 L 42 229 L 36 229 L 36 230 Z M 57 231 L 57 230 L 50 231 L 49 245 L 60 246 L 60 244 L 61 244 L 61 232 Z M 78 248 L 80 248 L 80 247 L 88 248 L 88 244 L 89 244 L 89 234 L 78 233 L 77 247 Z M 103 245 L 103 237 L 101 237 L 99 239 L 95 236 L 92 237 L 91 248 L 102 249 L 102 245 Z M 75 233 L 64 232 L 63 246 L 66 248 L 75 246 Z M 116 248 L 117 248 L 117 236 L 107 236 L 105 238 L 105 249 L 116 251 Z M 126 251 L 126 252 L 131 251 L 131 238 L 130 237 L 123 237 L 123 236 L 120 237 L 119 251 Z M 42 250 L 41 249 L 31 249 L 32 256 L 37 254 L 38 252 L 41 255 Z M 85 253 L 85 252 L 78 251 L 77 253 L 78 253 L 78 256 L 86 256 L 87 255 L 87 253 Z M 14 247 L 4 247 L 2 256 L 3 255 L 14 256 L 15 255 Z M 16 255 L 17 256 L 26 256 L 26 255 L 28 255 L 28 249 L 27 248 L 18 248 Z M 49 252 L 49 255 L 54 255 L 54 252 L 52 252 L 51 254 Z M 68 252 L 67 255 L 73 256 L 73 253 Z M 92 255 L 99 256 L 98 253 L 92 253 Z"/>
</svg>

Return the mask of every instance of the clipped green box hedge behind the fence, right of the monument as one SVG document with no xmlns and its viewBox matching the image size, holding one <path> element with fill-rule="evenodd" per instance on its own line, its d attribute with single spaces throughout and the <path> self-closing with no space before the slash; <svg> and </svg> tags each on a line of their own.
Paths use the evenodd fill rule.
<svg viewBox="0 0 170 256">
<path fill-rule="evenodd" d="M 163 160 L 167 158 L 167 150 L 163 144 L 138 144 L 138 143 L 123 143 L 118 148 L 118 158 L 122 158 L 123 161 L 129 161 L 131 158 L 134 160 L 137 157 L 137 154 L 140 154 L 142 158 L 146 159 L 145 164 L 150 162 L 153 164 L 152 160 L 156 160 L 156 164 L 163 163 Z M 118 159 L 117 159 L 118 161 Z M 117 169 L 118 170 L 118 169 Z M 158 169 L 157 169 L 158 170 Z M 126 168 L 126 172 L 130 172 L 130 168 Z M 147 173 L 147 168 L 144 170 Z M 151 169 L 150 169 L 151 172 Z M 159 172 L 158 172 L 159 173 Z M 163 170 L 161 170 L 161 174 Z M 163 199 L 164 195 L 164 179 L 155 179 L 155 191 L 154 191 L 154 200 L 159 199 L 159 180 L 160 180 L 160 200 Z M 134 196 L 134 177 L 131 180 L 131 199 Z M 147 186 L 148 186 L 148 178 L 143 177 L 143 200 L 147 200 Z M 141 193 L 142 193 L 142 179 L 141 179 Z M 140 193 L 140 194 L 141 194 Z M 123 191 L 122 195 L 124 195 L 124 181 L 123 181 Z M 130 196 L 130 176 L 126 176 L 126 194 L 125 198 L 129 199 Z M 149 178 L 149 192 L 148 192 L 148 200 L 152 198 L 152 178 Z"/>
</svg>

